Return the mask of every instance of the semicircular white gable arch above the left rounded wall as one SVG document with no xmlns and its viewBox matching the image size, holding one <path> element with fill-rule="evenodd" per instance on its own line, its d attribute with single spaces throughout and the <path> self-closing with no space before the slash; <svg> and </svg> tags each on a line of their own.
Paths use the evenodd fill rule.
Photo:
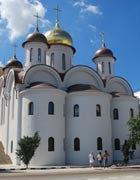
<svg viewBox="0 0 140 180">
<path fill-rule="evenodd" d="M 26 72 L 23 83 L 29 85 L 33 82 L 44 82 L 61 87 L 59 74 L 49 66 L 35 65 L 30 67 Z"/>
</svg>

